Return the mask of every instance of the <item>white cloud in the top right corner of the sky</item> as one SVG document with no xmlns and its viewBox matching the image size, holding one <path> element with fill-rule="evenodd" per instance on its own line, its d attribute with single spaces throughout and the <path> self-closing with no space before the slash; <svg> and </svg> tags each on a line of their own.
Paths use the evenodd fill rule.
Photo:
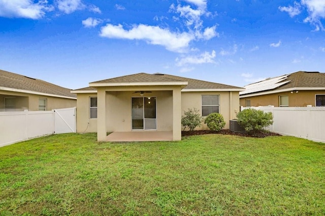
<svg viewBox="0 0 325 216">
<path fill-rule="evenodd" d="M 300 3 L 295 2 L 294 6 L 279 7 L 280 11 L 287 12 L 290 17 L 294 17 L 305 9 L 308 16 L 304 19 L 305 23 L 315 26 L 314 31 L 325 30 L 321 20 L 325 18 L 325 1 L 323 0 L 301 0 Z"/>
</svg>

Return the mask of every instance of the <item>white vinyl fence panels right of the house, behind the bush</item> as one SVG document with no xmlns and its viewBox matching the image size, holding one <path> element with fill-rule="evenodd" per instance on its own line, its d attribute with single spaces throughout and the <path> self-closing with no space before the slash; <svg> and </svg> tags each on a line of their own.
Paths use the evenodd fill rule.
<svg viewBox="0 0 325 216">
<path fill-rule="evenodd" d="M 325 143 L 325 107 L 242 107 L 272 112 L 271 132 Z"/>
</svg>

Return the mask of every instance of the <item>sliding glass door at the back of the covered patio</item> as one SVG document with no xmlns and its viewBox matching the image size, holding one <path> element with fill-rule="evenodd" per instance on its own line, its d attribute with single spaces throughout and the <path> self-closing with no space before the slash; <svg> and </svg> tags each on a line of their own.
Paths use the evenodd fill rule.
<svg viewBox="0 0 325 216">
<path fill-rule="evenodd" d="M 156 97 L 132 98 L 132 129 L 156 129 Z"/>
</svg>

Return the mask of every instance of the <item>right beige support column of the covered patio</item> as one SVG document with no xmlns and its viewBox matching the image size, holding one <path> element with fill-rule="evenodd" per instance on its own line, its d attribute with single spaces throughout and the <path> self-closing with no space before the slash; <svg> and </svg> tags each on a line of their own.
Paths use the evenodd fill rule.
<svg viewBox="0 0 325 216">
<path fill-rule="evenodd" d="M 173 90 L 173 140 L 182 139 L 182 98 L 181 89 Z"/>
</svg>

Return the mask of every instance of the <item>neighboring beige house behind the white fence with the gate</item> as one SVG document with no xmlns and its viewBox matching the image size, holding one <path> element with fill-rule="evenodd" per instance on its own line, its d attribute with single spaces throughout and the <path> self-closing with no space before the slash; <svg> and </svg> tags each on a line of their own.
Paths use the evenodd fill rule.
<svg viewBox="0 0 325 216">
<path fill-rule="evenodd" d="M 70 89 L 0 70 L 0 111 L 38 111 L 76 107 Z"/>
</svg>

